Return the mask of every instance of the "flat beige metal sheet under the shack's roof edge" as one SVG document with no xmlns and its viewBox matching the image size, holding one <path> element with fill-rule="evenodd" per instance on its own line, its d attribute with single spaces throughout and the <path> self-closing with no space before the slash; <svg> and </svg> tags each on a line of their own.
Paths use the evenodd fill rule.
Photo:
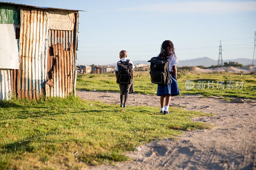
<svg viewBox="0 0 256 170">
<path fill-rule="evenodd" d="M 51 30 L 74 30 L 75 14 L 74 11 L 48 10 L 49 29 Z"/>
</svg>

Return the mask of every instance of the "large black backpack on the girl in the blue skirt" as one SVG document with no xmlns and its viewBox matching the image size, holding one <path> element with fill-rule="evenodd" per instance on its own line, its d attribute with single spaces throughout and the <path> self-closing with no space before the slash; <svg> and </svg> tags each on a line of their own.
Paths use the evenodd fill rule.
<svg viewBox="0 0 256 170">
<path fill-rule="evenodd" d="M 168 57 L 153 57 L 150 62 L 151 82 L 158 85 L 167 85 L 171 81 Z"/>
</svg>

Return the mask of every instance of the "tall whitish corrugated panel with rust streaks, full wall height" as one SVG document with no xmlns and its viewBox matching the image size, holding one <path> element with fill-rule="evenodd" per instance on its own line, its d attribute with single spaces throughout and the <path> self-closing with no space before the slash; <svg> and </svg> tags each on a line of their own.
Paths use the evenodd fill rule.
<svg viewBox="0 0 256 170">
<path fill-rule="evenodd" d="M 20 16 L 18 98 L 39 99 L 47 74 L 48 14 L 44 9 L 21 6 Z"/>
</svg>

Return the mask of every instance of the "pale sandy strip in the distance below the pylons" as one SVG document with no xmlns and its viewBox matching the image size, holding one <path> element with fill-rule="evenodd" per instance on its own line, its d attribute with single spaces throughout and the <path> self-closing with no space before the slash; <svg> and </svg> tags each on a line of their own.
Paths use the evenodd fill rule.
<svg viewBox="0 0 256 170">
<path fill-rule="evenodd" d="M 199 67 L 195 67 L 195 72 L 198 73 L 211 73 L 211 72 L 232 72 L 232 73 L 250 73 L 256 70 L 256 67 L 218 67 L 211 69 L 201 69 Z"/>
</svg>

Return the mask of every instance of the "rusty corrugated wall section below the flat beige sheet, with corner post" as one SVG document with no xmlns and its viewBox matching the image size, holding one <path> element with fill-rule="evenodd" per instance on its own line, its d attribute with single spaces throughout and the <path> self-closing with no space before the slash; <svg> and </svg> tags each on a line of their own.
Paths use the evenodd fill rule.
<svg viewBox="0 0 256 170">
<path fill-rule="evenodd" d="M 46 97 L 66 97 L 75 90 L 76 23 L 77 18 L 74 30 L 49 30 Z"/>
</svg>

